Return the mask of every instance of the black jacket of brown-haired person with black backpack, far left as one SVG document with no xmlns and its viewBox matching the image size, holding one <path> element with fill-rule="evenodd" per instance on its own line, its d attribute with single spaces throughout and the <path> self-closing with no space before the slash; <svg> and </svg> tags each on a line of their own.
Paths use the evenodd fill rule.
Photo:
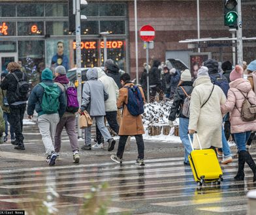
<svg viewBox="0 0 256 215">
<path fill-rule="evenodd" d="M 22 72 L 20 70 L 15 70 L 13 72 L 16 74 L 18 79 L 22 79 Z M 27 80 L 25 76 L 25 81 Z M 8 104 L 12 104 L 14 102 L 19 102 L 20 100 L 17 98 L 15 91 L 17 89 L 18 81 L 14 78 L 14 76 L 11 73 L 8 73 L 7 76 L 5 76 L 5 79 L 1 82 L 1 89 L 7 90 L 7 101 Z"/>
</svg>

